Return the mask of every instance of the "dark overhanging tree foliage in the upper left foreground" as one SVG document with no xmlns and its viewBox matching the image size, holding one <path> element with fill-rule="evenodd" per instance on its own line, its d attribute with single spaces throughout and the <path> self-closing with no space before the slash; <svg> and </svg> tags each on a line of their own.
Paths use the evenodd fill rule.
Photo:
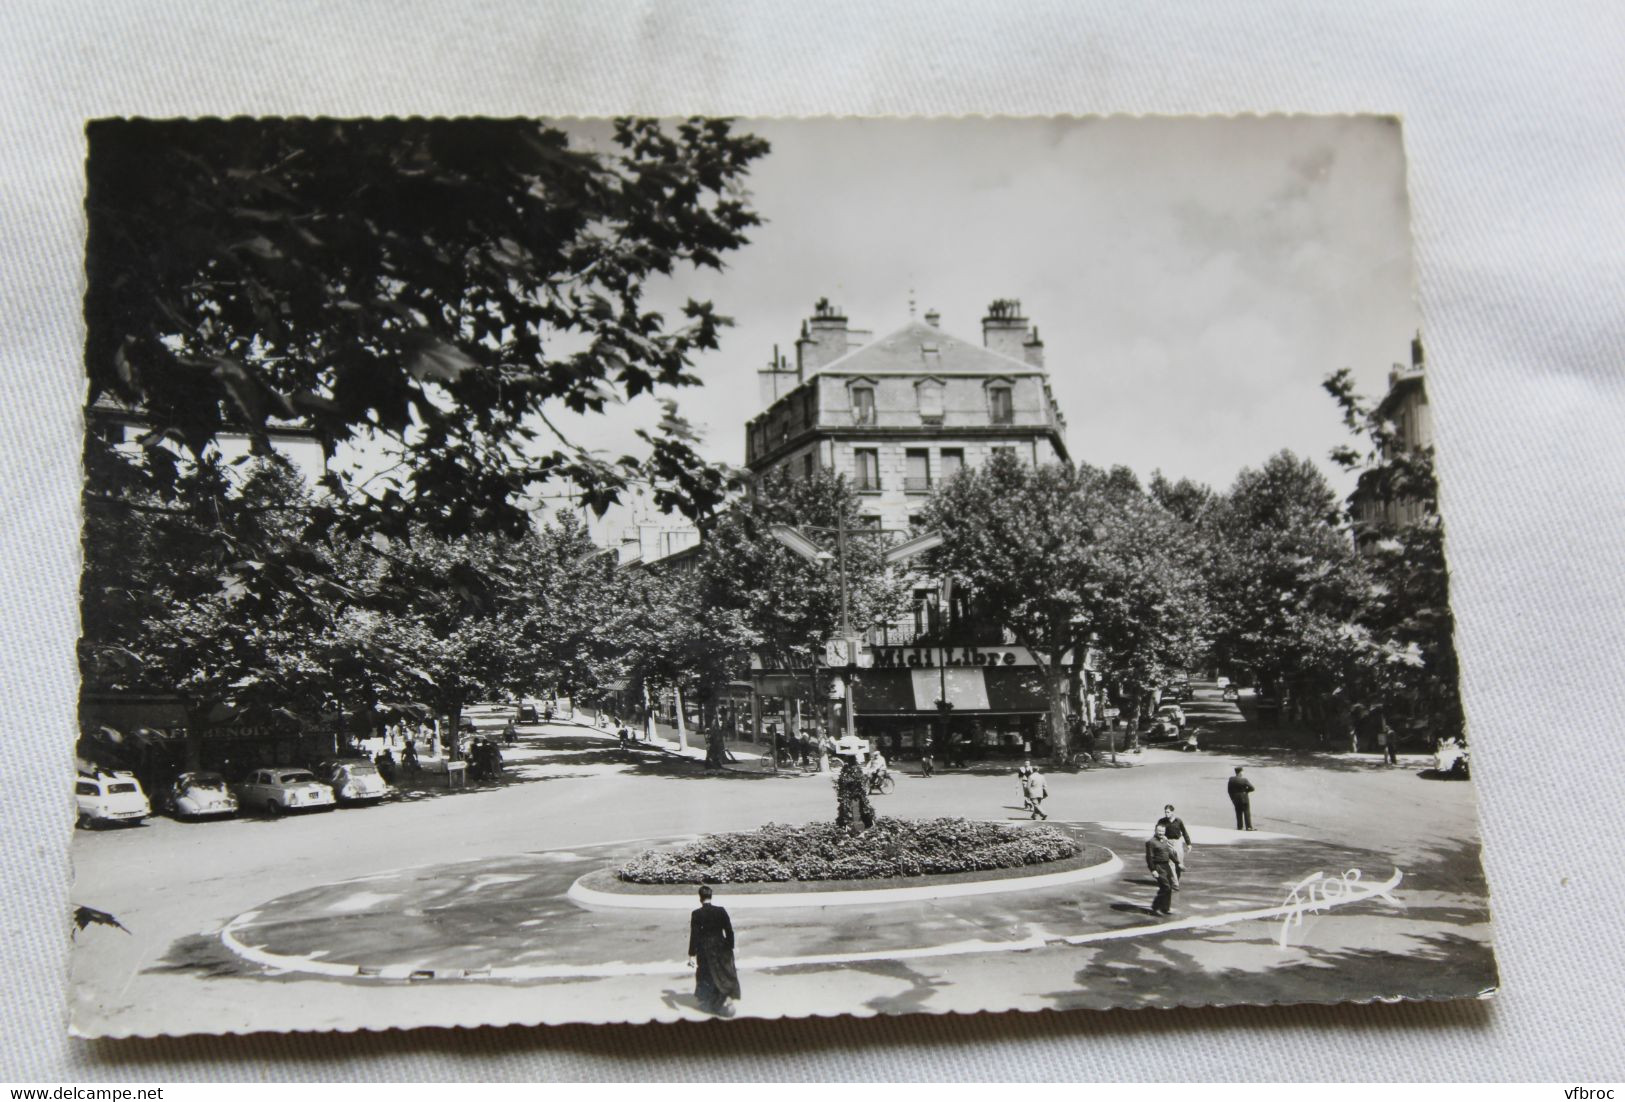
<svg viewBox="0 0 1625 1102">
<path fill-rule="evenodd" d="M 533 120 L 94 122 L 91 401 L 150 423 L 130 475 L 159 496 L 221 434 L 263 452 L 281 424 L 398 463 L 330 465 L 312 531 L 518 533 L 552 481 L 601 509 L 653 478 L 705 510 L 723 473 L 674 410 L 613 460 L 549 411 L 696 382 L 726 319 L 663 317 L 645 284 L 744 244 L 765 150 L 726 120 L 619 120 L 606 151 Z"/>
</svg>

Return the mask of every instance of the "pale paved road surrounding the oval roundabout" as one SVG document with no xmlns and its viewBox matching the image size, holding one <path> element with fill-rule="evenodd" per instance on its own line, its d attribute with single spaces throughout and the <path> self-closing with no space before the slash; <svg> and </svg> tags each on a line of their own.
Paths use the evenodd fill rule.
<svg viewBox="0 0 1625 1102">
<path fill-rule="evenodd" d="M 500 878 L 518 873 L 504 870 L 522 866 L 528 874 L 536 861 L 554 860 L 556 887 L 569 879 L 566 873 L 647 839 L 832 813 L 827 779 L 756 769 L 707 777 L 697 764 L 660 753 L 626 762 L 609 740 L 580 728 L 531 728 L 514 757 L 507 783 L 466 793 L 281 821 L 156 819 L 141 829 L 80 832 L 73 899 L 115 913 L 130 933 L 93 926 L 80 935 L 76 1027 L 120 1035 L 692 1017 L 691 983 L 681 974 L 642 967 L 679 956 L 682 915 L 665 930 L 658 917 L 588 915 L 517 899 L 514 884 L 522 881 Z M 1128 769 L 1053 777 L 1046 805 L 1055 819 L 1082 824 L 1094 840 L 1124 852 L 1131 860 L 1123 878 L 1025 900 L 916 904 L 777 922 L 772 912 L 754 913 L 741 922 L 741 956 L 780 964 L 746 970 L 741 1013 L 1329 1001 L 1399 990 L 1462 996 L 1493 987 L 1469 785 L 1419 777 L 1420 759 L 1388 769 L 1375 757 L 1147 751 L 1129 761 Z M 1259 831 L 1295 840 L 1228 831 L 1224 782 L 1233 764 L 1248 766 L 1258 785 Z M 1094 931 L 1150 923 L 1141 912 L 1150 889 L 1138 883 L 1142 876 L 1133 863 L 1142 835 L 1134 824 L 1149 826 L 1165 801 L 1180 805 L 1199 844 L 1204 835 L 1235 842 L 1199 845 L 1178 902 L 1181 917 L 1279 904 L 1292 884 L 1316 871 L 1357 866 L 1372 879 L 1398 868 L 1404 881 L 1391 902 L 1308 917 L 1285 931 L 1285 948 L 1279 918 L 1089 941 Z M 905 777 L 895 795 L 878 803 L 886 814 L 1022 818 L 1014 777 L 982 772 Z M 1094 826 L 1102 822 L 1120 826 Z M 570 857 L 536 857 L 543 852 Z M 436 866 L 453 870 L 437 876 Z M 422 873 L 401 878 L 395 870 L 403 868 Z M 494 879 L 479 881 L 481 874 Z M 392 925 L 398 900 L 367 897 L 364 884 L 333 887 L 364 876 L 379 876 L 377 884 L 416 879 L 426 891 L 457 884 L 465 897 L 440 915 L 408 900 Z M 489 910 L 470 904 L 471 884 L 476 894 L 489 894 Z M 307 913 L 281 931 L 299 933 L 314 959 L 338 961 L 364 949 L 370 964 L 384 957 L 520 959 L 525 952 L 536 961 L 642 964 L 619 975 L 604 969 L 525 983 L 338 980 L 273 974 L 223 944 L 226 923 L 286 897 L 349 899 L 348 910 Z M 414 909 L 424 913 L 405 913 Z M 346 922 L 361 931 L 362 920 L 366 933 L 340 933 Z M 392 956 L 377 944 L 396 935 L 413 952 Z M 523 944 L 504 941 L 515 936 Z M 957 941 L 994 948 L 904 952 Z M 1008 951 L 1009 943 L 1035 948 Z M 899 954 L 783 964 L 840 956 L 845 948 L 895 948 Z"/>
</svg>

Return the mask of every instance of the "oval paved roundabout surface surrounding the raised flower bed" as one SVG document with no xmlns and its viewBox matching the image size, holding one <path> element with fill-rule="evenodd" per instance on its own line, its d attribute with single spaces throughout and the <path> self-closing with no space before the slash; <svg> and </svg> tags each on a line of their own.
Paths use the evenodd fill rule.
<svg viewBox="0 0 1625 1102">
<path fill-rule="evenodd" d="M 1277 928 L 1311 926 L 1332 907 L 1401 905 L 1393 894 L 1401 873 L 1380 855 L 1204 827 L 1211 848 L 1196 850 L 1180 913 L 1155 920 L 1146 913 L 1150 887 L 1138 861 L 1142 827 L 1056 826 L 1086 840 L 1082 860 L 1060 873 L 826 886 L 834 891 L 790 884 L 788 892 L 723 884 L 717 902 L 738 915 L 738 965 L 754 972 L 1076 951 L 1124 938 L 1216 936 L 1248 923 L 1269 923 L 1263 933 L 1274 939 Z M 260 975 L 362 983 L 681 975 L 692 894 L 635 886 L 645 894 L 604 900 L 593 884 L 650 845 L 682 840 L 639 839 L 375 873 L 266 900 L 234 917 L 218 936 L 242 972 Z M 1360 881 L 1352 891 L 1290 899 L 1306 874 L 1321 871 L 1331 881 L 1349 870 Z"/>
</svg>

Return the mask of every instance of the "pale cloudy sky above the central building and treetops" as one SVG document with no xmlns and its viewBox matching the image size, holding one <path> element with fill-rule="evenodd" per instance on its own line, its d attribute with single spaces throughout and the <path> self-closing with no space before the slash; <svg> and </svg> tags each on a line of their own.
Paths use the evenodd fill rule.
<svg viewBox="0 0 1625 1102">
<path fill-rule="evenodd" d="M 733 317 L 681 395 L 710 458 L 744 462 L 756 372 L 793 356 L 829 296 L 882 335 L 916 312 L 980 343 L 998 297 L 1038 327 L 1074 460 L 1219 489 L 1280 449 L 1347 440 L 1320 384 L 1367 395 L 1409 359 L 1414 301 L 1401 130 L 1376 117 L 741 120 L 772 143 L 748 179 L 765 219 L 720 273 L 655 302 Z M 585 137 L 585 135 L 583 135 Z M 583 423 L 611 453 L 652 423 Z"/>
</svg>

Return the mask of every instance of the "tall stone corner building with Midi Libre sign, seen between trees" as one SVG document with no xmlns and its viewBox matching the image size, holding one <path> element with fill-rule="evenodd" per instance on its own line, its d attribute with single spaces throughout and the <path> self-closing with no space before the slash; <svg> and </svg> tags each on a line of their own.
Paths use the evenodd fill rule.
<svg viewBox="0 0 1625 1102">
<path fill-rule="evenodd" d="M 868 527 L 918 528 L 938 486 L 1001 450 L 1034 465 L 1068 458 L 1043 351 L 1012 299 L 988 306 L 980 345 L 946 332 L 934 310 L 876 338 L 819 301 L 795 362 L 775 348 L 759 372 L 764 411 L 748 424 L 746 465 L 757 478 L 835 471 L 858 491 Z M 970 753 L 1042 753 L 1048 697 L 1032 655 L 964 601 L 944 608 L 936 579 L 915 579 L 912 613 L 868 626 L 863 644 L 855 725 L 889 753 L 926 744 L 944 694 Z M 759 697 L 770 714 L 782 699 L 795 728 L 795 701 L 819 678 L 754 665 Z"/>
</svg>

